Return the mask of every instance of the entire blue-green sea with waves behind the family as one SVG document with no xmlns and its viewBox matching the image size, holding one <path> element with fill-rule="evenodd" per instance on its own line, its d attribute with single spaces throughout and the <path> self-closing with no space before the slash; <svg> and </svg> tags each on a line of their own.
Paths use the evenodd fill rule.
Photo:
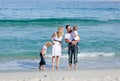
<svg viewBox="0 0 120 81">
<path fill-rule="evenodd" d="M 37 70 L 58 26 L 78 26 L 78 69 L 120 68 L 120 1 L 0 0 L 0 71 Z M 67 69 L 63 36 L 60 68 Z M 64 49 L 65 48 L 65 49 Z M 51 69 L 51 51 L 45 56 Z"/>
</svg>

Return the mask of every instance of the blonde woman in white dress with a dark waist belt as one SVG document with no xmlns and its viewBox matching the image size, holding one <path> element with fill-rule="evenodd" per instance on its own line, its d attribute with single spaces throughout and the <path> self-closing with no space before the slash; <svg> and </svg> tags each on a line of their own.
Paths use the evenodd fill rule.
<svg viewBox="0 0 120 81">
<path fill-rule="evenodd" d="M 57 32 L 52 35 L 52 70 L 54 70 L 54 61 L 56 60 L 56 69 L 59 69 L 59 59 L 62 50 L 63 27 L 59 26 Z"/>
</svg>

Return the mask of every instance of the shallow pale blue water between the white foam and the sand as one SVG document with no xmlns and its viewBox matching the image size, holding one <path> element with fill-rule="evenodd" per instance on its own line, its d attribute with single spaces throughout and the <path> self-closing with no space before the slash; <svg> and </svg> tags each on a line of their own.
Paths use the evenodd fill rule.
<svg viewBox="0 0 120 81">
<path fill-rule="evenodd" d="M 39 66 L 39 59 L 23 59 L 11 60 L 0 63 L 1 71 L 31 71 L 37 70 Z M 74 67 L 74 65 L 72 65 Z M 114 69 L 120 68 L 120 57 L 100 57 L 100 58 L 78 58 L 78 69 Z M 60 69 L 66 70 L 68 68 L 68 59 L 60 59 Z M 46 68 L 51 70 L 51 58 L 46 58 Z"/>
</svg>

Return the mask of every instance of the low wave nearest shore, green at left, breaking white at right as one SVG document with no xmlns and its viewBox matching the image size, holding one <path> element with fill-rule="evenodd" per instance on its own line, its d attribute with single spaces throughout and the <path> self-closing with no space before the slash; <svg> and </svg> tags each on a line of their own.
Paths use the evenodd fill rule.
<svg viewBox="0 0 120 81">
<path fill-rule="evenodd" d="M 79 58 L 92 57 L 120 57 L 120 53 L 105 53 L 105 52 L 81 52 L 78 54 Z M 46 58 L 51 58 L 51 54 L 46 54 Z M 68 58 L 68 54 L 62 54 L 61 58 Z M 23 54 L 0 54 L 0 59 L 39 59 L 39 53 L 23 53 Z"/>
</svg>

